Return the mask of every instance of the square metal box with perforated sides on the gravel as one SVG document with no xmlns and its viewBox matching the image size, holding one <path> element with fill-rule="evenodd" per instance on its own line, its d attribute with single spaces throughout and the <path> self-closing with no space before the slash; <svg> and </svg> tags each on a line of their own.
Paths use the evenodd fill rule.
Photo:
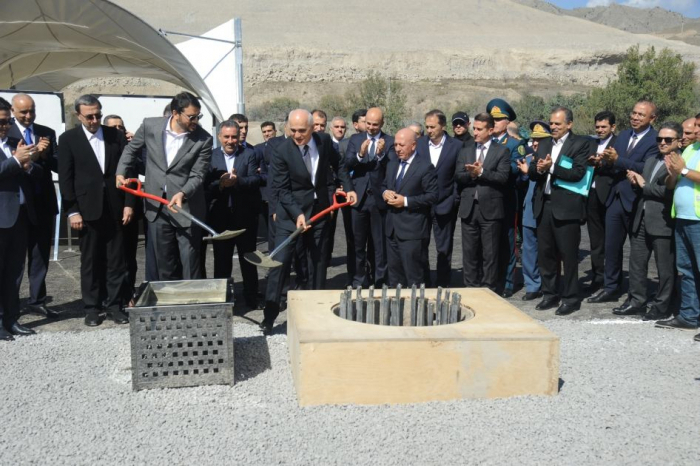
<svg viewBox="0 0 700 466">
<path fill-rule="evenodd" d="M 228 280 L 148 283 L 130 309 L 134 390 L 233 385 Z"/>
</svg>

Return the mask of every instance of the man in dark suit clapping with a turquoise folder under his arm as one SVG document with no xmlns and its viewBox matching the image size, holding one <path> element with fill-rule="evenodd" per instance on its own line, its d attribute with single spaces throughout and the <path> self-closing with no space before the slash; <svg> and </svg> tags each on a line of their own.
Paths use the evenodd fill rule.
<svg viewBox="0 0 700 466">
<path fill-rule="evenodd" d="M 586 174 L 591 154 L 589 138 L 571 132 L 573 122 L 573 113 L 568 108 L 552 110 L 549 119 L 552 139 L 539 145 L 528 172 L 530 179 L 537 183 L 533 212 L 537 219 L 538 259 L 544 294 L 536 309 L 551 309 L 561 299 L 562 304 L 556 310 L 556 315 L 560 316 L 581 308 L 578 248 L 581 222 L 586 218 L 586 203 L 582 195 L 558 184 L 559 180 L 580 181 Z M 561 295 L 557 291 L 560 259 L 564 265 Z"/>
</svg>

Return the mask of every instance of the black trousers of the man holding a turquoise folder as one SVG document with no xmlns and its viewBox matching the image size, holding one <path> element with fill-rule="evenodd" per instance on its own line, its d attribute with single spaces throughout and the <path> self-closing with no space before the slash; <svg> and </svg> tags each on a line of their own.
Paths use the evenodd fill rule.
<svg viewBox="0 0 700 466">
<path fill-rule="evenodd" d="M 537 260 L 542 276 L 545 298 L 561 296 L 565 304 L 577 304 L 578 248 L 581 244 L 581 225 L 578 220 L 557 220 L 552 215 L 551 201 L 546 200 L 537 223 Z M 557 292 L 559 261 L 563 262 L 562 291 Z"/>
</svg>

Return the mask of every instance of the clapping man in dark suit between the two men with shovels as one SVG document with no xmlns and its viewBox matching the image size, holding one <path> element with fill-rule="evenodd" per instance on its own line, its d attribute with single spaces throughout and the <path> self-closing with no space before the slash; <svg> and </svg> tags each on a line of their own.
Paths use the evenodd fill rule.
<svg viewBox="0 0 700 466">
<path fill-rule="evenodd" d="M 255 250 L 255 230 L 248 230 L 251 217 L 257 220 L 255 202 L 260 175 L 255 153 L 238 143 L 239 126 L 233 120 L 219 125 L 220 147 L 212 152 L 211 166 L 205 181 L 211 204 L 208 218 L 217 231 L 246 229 L 242 235 L 214 241 L 214 278 L 229 278 L 233 270 L 233 251 L 238 248 L 238 262 L 243 275 L 243 297 L 251 309 L 258 308 L 258 271 L 243 255 Z"/>
</svg>

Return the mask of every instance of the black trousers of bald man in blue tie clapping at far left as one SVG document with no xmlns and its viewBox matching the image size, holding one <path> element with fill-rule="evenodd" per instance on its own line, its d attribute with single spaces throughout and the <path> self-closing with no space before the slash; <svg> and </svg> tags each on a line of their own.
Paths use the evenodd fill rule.
<svg viewBox="0 0 700 466">
<path fill-rule="evenodd" d="M 53 223 L 54 216 L 49 215 L 40 218 L 38 225 L 29 225 L 27 230 L 27 278 L 29 279 L 27 304 L 40 305 L 46 302 L 46 274 L 49 271 Z M 24 261 L 22 265 L 24 266 Z"/>
</svg>

